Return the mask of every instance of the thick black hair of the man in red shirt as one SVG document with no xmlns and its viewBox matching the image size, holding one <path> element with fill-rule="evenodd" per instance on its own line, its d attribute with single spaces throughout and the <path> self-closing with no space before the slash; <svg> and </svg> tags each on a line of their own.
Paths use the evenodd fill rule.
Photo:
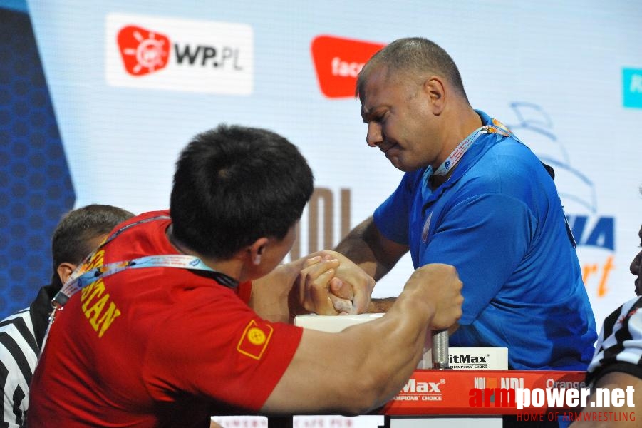
<svg viewBox="0 0 642 428">
<path fill-rule="evenodd" d="M 283 239 L 312 190 L 312 171 L 286 138 L 222 124 L 195 136 L 180 154 L 172 233 L 201 255 L 228 259 L 258 238 Z"/>
</svg>

